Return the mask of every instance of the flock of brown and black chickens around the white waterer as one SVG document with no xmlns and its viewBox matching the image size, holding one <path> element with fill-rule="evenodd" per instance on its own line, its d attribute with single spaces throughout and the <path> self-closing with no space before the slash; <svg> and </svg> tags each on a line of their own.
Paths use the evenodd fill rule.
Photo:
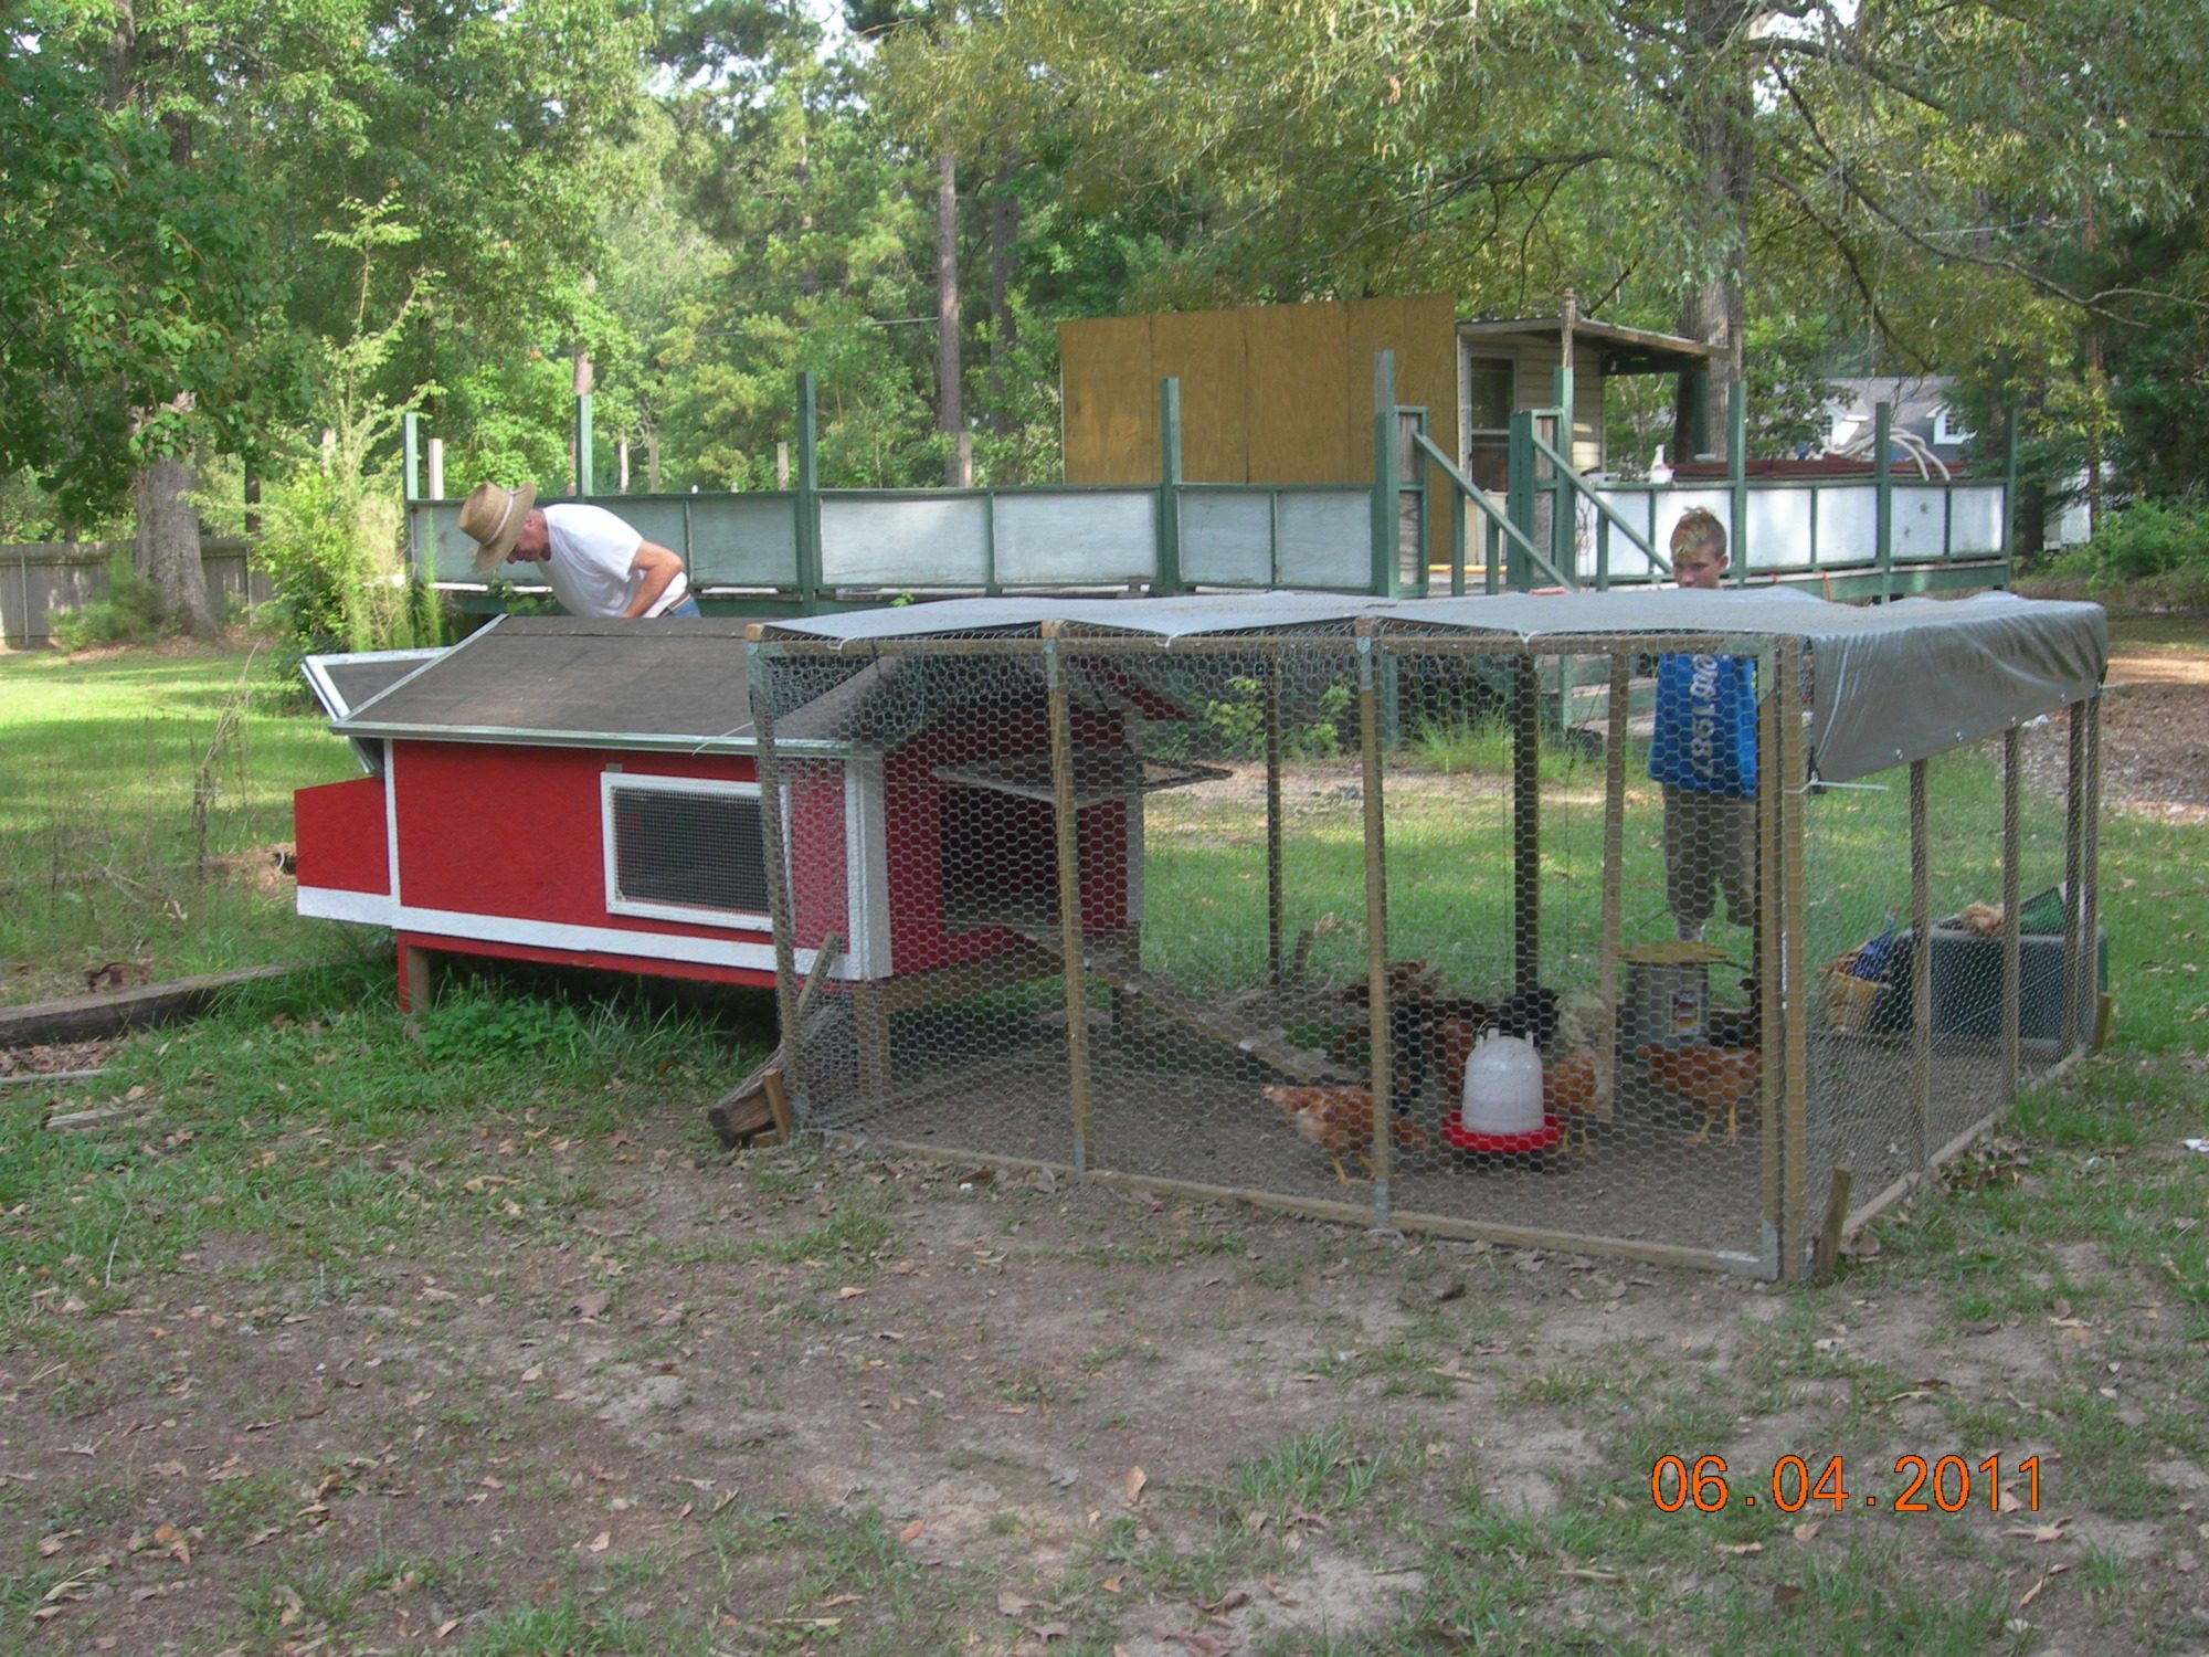
<svg viewBox="0 0 2209 1657">
<path fill-rule="evenodd" d="M 1442 977 L 1425 961 L 1389 961 L 1389 1138 L 1403 1151 L 1434 1151 L 1434 1133 L 1414 1116 L 1420 1100 L 1447 1100 L 1454 1109 L 1465 1089 L 1465 1065 L 1484 1032 L 1524 1036 L 1542 1052 L 1542 1114 L 1564 1122 L 1564 1147 L 1593 1151 L 1590 1122 L 1610 1120 L 1613 1065 L 1602 1060 L 1602 1045 L 1613 1021 L 1593 994 L 1560 996 L 1555 990 L 1531 990 L 1504 1001 L 1442 994 Z M 1635 1058 L 1648 1067 L 1650 1080 L 1703 1111 L 1703 1129 L 1688 1140 L 1708 1144 L 1719 1118 L 1725 1118 L 1721 1144 L 1741 1138 L 1741 1105 L 1763 1083 L 1761 1019 L 1754 979 L 1745 981 L 1745 1012 L 1712 1014 L 1708 1041 L 1690 1047 L 1635 1047 Z M 1365 1001 L 1365 988 L 1345 992 L 1345 1001 Z M 1354 1021 L 1334 1043 L 1336 1063 L 1352 1060 L 1372 1041 L 1372 1021 Z M 1431 1080 L 1431 1091 L 1429 1091 Z M 1370 1087 L 1286 1085 L 1264 1089 L 1297 1131 L 1328 1153 L 1334 1178 L 1350 1173 L 1345 1158 L 1372 1175 L 1374 1096 Z M 1427 1114 L 1434 1105 L 1427 1105 Z M 1577 1147 L 1575 1147 L 1577 1142 Z"/>
</svg>

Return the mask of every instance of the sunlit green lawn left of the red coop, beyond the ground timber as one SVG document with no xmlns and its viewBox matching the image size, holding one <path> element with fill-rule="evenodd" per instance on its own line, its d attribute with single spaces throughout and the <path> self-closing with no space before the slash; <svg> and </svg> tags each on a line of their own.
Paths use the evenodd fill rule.
<svg viewBox="0 0 2209 1657">
<path fill-rule="evenodd" d="M 294 789 L 360 775 L 287 696 L 265 654 L 0 654 L 0 1001 L 82 994 L 110 961 L 172 979 L 349 948 L 254 879 Z"/>
</svg>

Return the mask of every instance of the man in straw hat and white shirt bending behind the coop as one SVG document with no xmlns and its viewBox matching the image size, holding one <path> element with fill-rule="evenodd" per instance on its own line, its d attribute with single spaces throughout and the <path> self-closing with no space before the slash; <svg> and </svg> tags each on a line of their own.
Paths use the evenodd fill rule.
<svg viewBox="0 0 2209 1657">
<path fill-rule="evenodd" d="M 459 504 L 459 532 L 475 541 L 477 574 L 490 574 L 508 559 L 541 563 L 552 597 L 572 616 L 698 614 L 683 559 L 603 506 L 539 506 L 528 484 L 477 484 Z"/>
</svg>

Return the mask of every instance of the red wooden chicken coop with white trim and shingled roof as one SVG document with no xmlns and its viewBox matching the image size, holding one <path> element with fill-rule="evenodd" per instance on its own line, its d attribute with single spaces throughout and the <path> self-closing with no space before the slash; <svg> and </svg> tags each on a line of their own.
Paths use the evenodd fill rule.
<svg viewBox="0 0 2209 1657">
<path fill-rule="evenodd" d="M 391 928 L 402 1001 L 435 952 L 771 985 L 747 627 L 506 616 L 448 652 L 314 658 L 367 775 L 294 795 L 298 912 Z M 778 718 L 797 970 L 833 939 L 831 992 L 877 1010 L 1032 950 L 979 915 L 1056 924 L 1043 676 L 963 700 L 932 672 L 870 665 Z M 1177 716 L 1109 672 L 1078 685 L 1085 928 L 1140 921 L 1142 793 L 1204 771 L 1135 767 L 1129 733 Z"/>
</svg>

